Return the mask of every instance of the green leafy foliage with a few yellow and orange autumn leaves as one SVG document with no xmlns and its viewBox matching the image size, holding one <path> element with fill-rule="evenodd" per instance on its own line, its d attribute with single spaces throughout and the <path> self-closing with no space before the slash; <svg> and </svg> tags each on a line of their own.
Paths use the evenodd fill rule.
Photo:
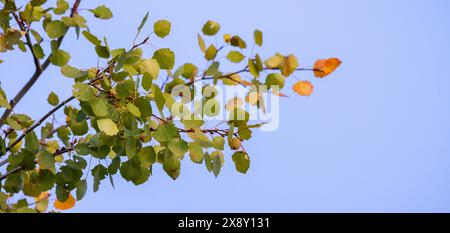
<svg viewBox="0 0 450 233">
<path fill-rule="evenodd" d="M 234 152 L 229 159 L 236 170 L 247 173 L 250 155 L 244 142 L 263 122 L 250 124 L 249 113 L 242 108 L 244 100 L 240 98 L 232 98 L 222 109 L 214 87 L 242 86 L 247 92 L 245 102 L 264 111 L 261 85 L 281 90 L 294 79 L 291 76 L 295 72 L 312 71 L 323 78 L 341 63 L 337 58 L 321 59 L 308 69 L 300 68 L 292 54 L 276 53 L 262 59 L 251 49 L 251 54 L 245 55 L 250 52 L 249 45 L 263 45 L 262 31 L 254 31 L 252 42 L 239 35 L 224 34 L 219 46 L 210 41 L 219 36 L 221 26 L 209 20 L 197 35 L 207 68 L 202 70 L 198 67 L 204 66 L 189 62 L 175 67 L 176 56 L 170 48 L 156 49 L 152 57 L 143 56 L 142 47 L 151 36 L 170 35 L 172 25 L 168 20 L 156 20 L 153 27 L 147 26 L 147 14 L 137 28 L 131 49 L 110 48 L 107 39 L 100 39 L 87 22 L 89 14 L 98 20 L 112 18 L 112 11 L 105 5 L 80 14 L 80 0 L 71 3 L 32 0 L 22 7 L 16 6 L 14 0 L 0 3 L 2 57 L 19 49 L 31 54 L 36 68 L 30 82 L 14 98 L 8 98 L 0 87 L 0 108 L 4 110 L 0 120 L 3 130 L 0 167 L 4 167 L 3 174 L 0 173 L 0 212 L 46 212 L 53 194 L 55 209 L 70 209 L 90 189 L 88 176 L 92 177 L 94 191 L 104 180 L 114 186 L 115 175 L 140 185 L 152 175 L 153 166 L 159 164 L 175 180 L 180 175 L 181 162 L 186 160 L 185 154 L 192 162 L 204 164 L 217 177 L 229 158 L 224 151 L 230 149 Z M 153 29 L 153 33 L 136 43 L 147 29 Z M 61 47 L 71 30 L 77 38 L 92 44 L 91 51 L 103 66 L 71 65 L 71 54 Z M 225 61 L 219 59 L 222 55 Z M 225 71 L 221 64 L 227 62 L 242 68 Z M 39 119 L 14 112 L 14 107 L 49 65 L 59 67 L 61 78 L 73 80 L 72 96 L 60 99 L 55 92 L 49 93 L 49 112 Z M 203 87 L 200 93 L 203 95 L 194 99 L 197 95 L 194 84 L 199 81 L 212 84 Z M 302 96 L 310 96 L 313 84 L 298 81 L 292 88 Z M 286 96 L 278 89 L 262 91 Z M 181 103 L 202 103 L 214 111 L 180 113 L 176 110 L 183 109 Z M 49 120 L 58 110 L 64 111 L 65 124 Z M 222 110 L 229 111 L 232 117 L 221 127 L 207 128 L 204 117 Z M 238 119 L 235 115 L 244 117 Z M 177 117 L 182 120 L 174 120 Z"/>
</svg>

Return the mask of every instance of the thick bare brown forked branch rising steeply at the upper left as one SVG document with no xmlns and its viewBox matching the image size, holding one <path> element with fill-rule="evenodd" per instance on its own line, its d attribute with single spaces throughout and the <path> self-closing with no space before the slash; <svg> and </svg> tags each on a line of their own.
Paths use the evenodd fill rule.
<svg viewBox="0 0 450 233">
<path fill-rule="evenodd" d="M 70 12 L 70 17 L 73 17 L 78 12 L 78 6 L 80 5 L 80 2 L 81 2 L 81 0 L 75 1 L 75 3 L 72 6 L 72 10 Z M 15 14 L 13 14 L 13 15 L 15 15 Z M 14 17 L 14 18 L 16 18 L 16 17 Z M 23 27 L 23 21 L 20 20 L 19 18 L 17 18 L 16 20 L 19 20 L 19 22 L 22 22 L 22 25 L 20 23 L 19 23 L 19 25 L 21 25 Z M 66 34 L 67 34 L 67 32 L 66 32 Z M 61 46 L 61 43 L 62 43 L 64 37 L 66 36 L 66 34 L 64 34 L 62 37 L 58 38 L 58 41 L 57 41 L 58 48 Z M 50 58 L 51 58 L 52 54 L 50 54 L 47 57 L 47 59 L 45 60 L 45 62 L 42 65 L 40 65 L 39 59 L 36 58 L 36 55 L 34 54 L 34 51 L 32 49 L 31 39 L 30 39 L 28 32 L 26 34 L 26 39 L 27 39 L 27 45 L 28 45 L 28 47 L 30 47 L 31 53 L 33 54 L 33 58 L 35 60 L 34 63 L 36 66 L 36 70 L 34 71 L 31 78 L 28 80 L 28 82 L 25 83 L 25 85 L 22 87 L 22 89 L 20 89 L 19 93 L 17 93 L 17 95 L 10 101 L 9 104 L 11 107 L 9 109 L 6 109 L 5 112 L 3 113 L 2 117 L 0 118 L 0 127 L 2 127 L 5 124 L 6 119 L 12 113 L 14 107 L 20 102 L 20 100 L 22 100 L 22 98 L 25 96 L 25 94 L 31 89 L 31 87 L 36 83 L 36 81 L 41 77 L 42 73 L 50 65 Z M 37 59 L 37 61 L 36 61 L 36 59 Z"/>
</svg>

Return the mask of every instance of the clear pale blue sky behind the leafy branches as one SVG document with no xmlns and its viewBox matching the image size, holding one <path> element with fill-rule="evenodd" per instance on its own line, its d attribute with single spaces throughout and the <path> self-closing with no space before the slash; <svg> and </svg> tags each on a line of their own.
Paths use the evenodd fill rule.
<svg viewBox="0 0 450 233">
<path fill-rule="evenodd" d="M 81 8 L 103 2 L 83 1 Z M 147 11 L 149 22 L 172 21 L 171 35 L 151 42 L 173 49 L 178 65 L 204 64 L 196 33 L 208 19 L 220 22 L 222 33 L 248 40 L 261 29 L 265 56 L 294 53 L 301 66 L 339 57 L 343 65 L 326 79 L 297 74 L 311 80 L 315 92 L 282 101 L 279 130 L 254 134 L 246 145 L 252 159 L 248 174 L 235 172 L 229 157 L 218 178 L 188 160 L 176 181 L 156 166 L 138 187 L 118 178 L 115 190 L 102 183 L 74 212 L 450 211 L 449 1 L 111 0 L 107 5 L 114 18 L 90 25 L 111 47 L 129 47 Z M 71 64 L 95 66 L 87 42 L 70 37 L 62 47 L 73 51 Z M 146 51 L 150 56 L 152 47 Z M 9 96 L 33 71 L 27 55 L 9 54 L 0 65 Z M 49 69 L 17 112 L 42 115 L 49 109 L 48 93 L 56 88 L 65 98 L 71 82 Z"/>
</svg>

